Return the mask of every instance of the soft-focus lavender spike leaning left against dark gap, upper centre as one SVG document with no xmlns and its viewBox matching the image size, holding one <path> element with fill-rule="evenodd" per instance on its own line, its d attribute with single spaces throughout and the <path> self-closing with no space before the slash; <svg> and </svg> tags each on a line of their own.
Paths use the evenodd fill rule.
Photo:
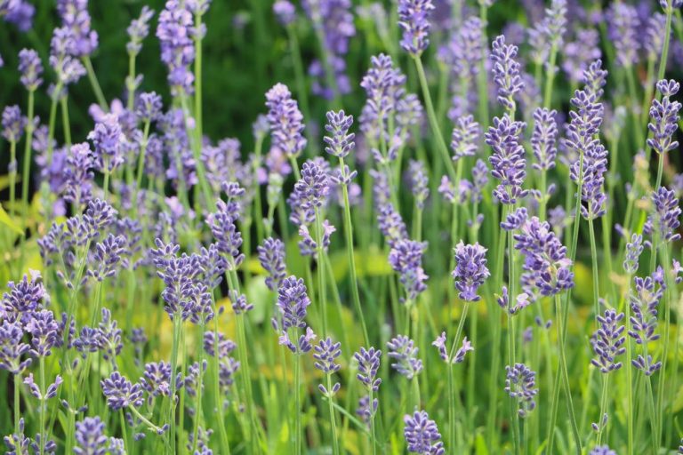
<svg viewBox="0 0 683 455">
<path fill-rule="evenodd" d="M 269 109 L 273 146 L 286 156 L 296 158 L 306 148 L 306 139 L 302 135 L 305 125 L 299 105 L 285 84 L 275 84 L 266 93 L 266 107 Z"/>
</svg>

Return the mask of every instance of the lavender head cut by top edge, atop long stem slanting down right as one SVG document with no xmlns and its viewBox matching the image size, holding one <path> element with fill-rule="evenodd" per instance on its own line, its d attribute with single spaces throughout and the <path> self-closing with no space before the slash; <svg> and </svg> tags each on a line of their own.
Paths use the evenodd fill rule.
<svg viewBox="0 0 683 455">
<path fill-rule="evenodd" d="M 398 25 L 403 29 L 401 47 L 409 54 L 419 57 L 430 45 L 431 0 L 399 0 Z"/>
</svg>

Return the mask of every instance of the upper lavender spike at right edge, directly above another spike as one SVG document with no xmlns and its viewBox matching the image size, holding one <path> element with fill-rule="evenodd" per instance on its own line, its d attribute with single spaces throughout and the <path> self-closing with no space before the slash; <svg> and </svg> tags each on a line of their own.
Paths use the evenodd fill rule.
<svg viewBox="0 0 683 455">
<path fill-rule="evenodd" d="M 673 135 L 679 129 L 680 103 L 672 101 L 671 97 L 679 92 L 680 84 L 674 80 L 662 79 L 657 82 L 657 92 L 662 94 L 662 100 L 652 100 L 650 108 L 651 122 L 647 129 L 652 132 L 652 138 L 647 139 L 647 146 L 659 154 L 667 153 L 679 147 L 679 142 Z"/>
</svg>

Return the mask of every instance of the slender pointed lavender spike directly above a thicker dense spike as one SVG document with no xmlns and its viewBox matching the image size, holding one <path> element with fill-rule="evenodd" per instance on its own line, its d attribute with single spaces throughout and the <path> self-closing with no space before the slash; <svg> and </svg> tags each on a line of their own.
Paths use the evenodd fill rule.
<svg viewBox="0 0 683 455">
<path fill-rule="evenodd" d="M 498 87 L 498 102 L 504 108 L 515 109 L 515 95 L 524 88 L 519 76 L 517 60 L 518 48 L 514 44 L 505 44 L 505 36 L 494 39 L 491 46 L 491 60 L 493 63 L 494 82 Z"/>
</svg>

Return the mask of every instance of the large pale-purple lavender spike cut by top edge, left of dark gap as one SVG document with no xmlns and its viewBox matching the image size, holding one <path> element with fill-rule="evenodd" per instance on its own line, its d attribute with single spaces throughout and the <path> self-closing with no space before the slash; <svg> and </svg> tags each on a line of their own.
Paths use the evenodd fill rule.
<svg viewBox="0 0 683 455">
<path fill-rule="evenodd" d="M 195 77 L 189 66 L 195 60 L 194 33 L 194 20 L 188 6 L 177 0 L 167 1 L 159 14 L 157 38 L 173 94 L 192 92 Z"/>
</svg>

